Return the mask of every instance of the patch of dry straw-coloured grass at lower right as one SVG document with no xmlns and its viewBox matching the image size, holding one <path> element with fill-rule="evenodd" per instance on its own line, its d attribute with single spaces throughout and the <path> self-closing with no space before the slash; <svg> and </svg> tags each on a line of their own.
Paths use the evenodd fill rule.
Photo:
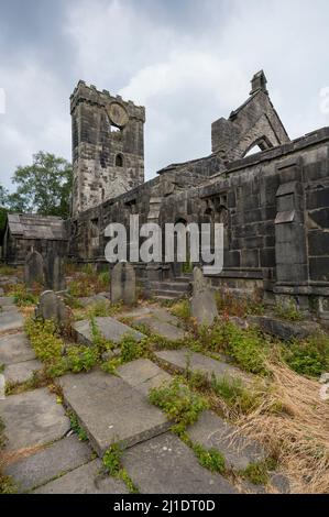
<svg viewBox="0 0 329 517">
<path fill-rule="evenodd" d="M 329 492 L 329 404 L 319 383 L 283 364 L 267 364 L 272 389 L 259 407 L 238 422 L 277 458 L 293 493 Z"/>
</svg>

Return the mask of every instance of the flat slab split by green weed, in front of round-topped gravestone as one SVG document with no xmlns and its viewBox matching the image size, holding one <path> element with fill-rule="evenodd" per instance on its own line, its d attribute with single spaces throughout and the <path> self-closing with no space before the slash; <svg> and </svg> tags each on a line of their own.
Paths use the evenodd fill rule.
<svg viewBox="0 0 329 517">
<path fill-rule="evenodd" d="M 131 327 L 121 323 L 114 318 L 99 317 L 95 318 L 95 322 L 101 336 L 103 336 L 107 340 L 113 341 L 114 343 L 119 343 L 121 339 L 128 334 L 133 336 L 136 341 L 140 341 L 141 339 L 145 338 L 145 336 L 141 332 L 138 332 Z M 79 343 L 86 345 L 92 344 L 94 339 L 89 320 L 77 321 L 76 323 L 74 323 L 74 329 L 76 332 L 76 339 Z"/>
</svg>

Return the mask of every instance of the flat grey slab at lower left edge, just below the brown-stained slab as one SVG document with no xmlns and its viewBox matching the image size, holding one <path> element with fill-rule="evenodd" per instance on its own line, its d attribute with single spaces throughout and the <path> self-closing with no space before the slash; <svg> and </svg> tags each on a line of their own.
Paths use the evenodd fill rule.
<svg viewBox="0 0 329 517">
<path fill-rule="evenodd" d="M 88 443 L 73 435 L 10 464 L 3 472 L 13 479 L 18 491 L 24 493 L 77 469 L 91 459 L 92 450 Z"/>
</svg>

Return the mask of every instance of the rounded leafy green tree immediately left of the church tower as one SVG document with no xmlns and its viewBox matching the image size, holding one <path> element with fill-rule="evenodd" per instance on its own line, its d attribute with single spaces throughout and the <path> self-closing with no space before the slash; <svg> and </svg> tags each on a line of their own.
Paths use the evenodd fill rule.
<svg viewBox="0 0 329 517">
<path fill-rule="evenodd" d="M 9 211 L 69 216 L 73 170 L 66 160 L 40 151 L 32 165 L 17 168 L 12 182 L 17 191 L 7 196 Z"/>
</svg>

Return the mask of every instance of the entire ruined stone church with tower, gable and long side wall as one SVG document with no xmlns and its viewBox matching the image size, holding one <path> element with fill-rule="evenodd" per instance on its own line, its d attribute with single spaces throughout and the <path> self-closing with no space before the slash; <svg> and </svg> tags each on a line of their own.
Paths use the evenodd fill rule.
<svg viewBox="0 0 329 517">
<path fill-rule="evenodd" d="M 107 264 L 105 228 L 223 222 L 224 267 L 215 288 L 265 300 L 293 298 L 329 318 L 329 128 L 290 141 L 261 70 L 246 101 L 211 125 L 209 156 L 171 164 L 144 182 L 145 109 L 79 81 L 70 97 L 72 217 L 10 215 L 9 263 L 33 245 L 80 263 Z M 197 122 L 197 121 L 196 121 Z M 250 154 L 253 147 L 260 152 Z M 135 264 L 153 293 L 179 293 L 182 264 Z"/>
</svg>

